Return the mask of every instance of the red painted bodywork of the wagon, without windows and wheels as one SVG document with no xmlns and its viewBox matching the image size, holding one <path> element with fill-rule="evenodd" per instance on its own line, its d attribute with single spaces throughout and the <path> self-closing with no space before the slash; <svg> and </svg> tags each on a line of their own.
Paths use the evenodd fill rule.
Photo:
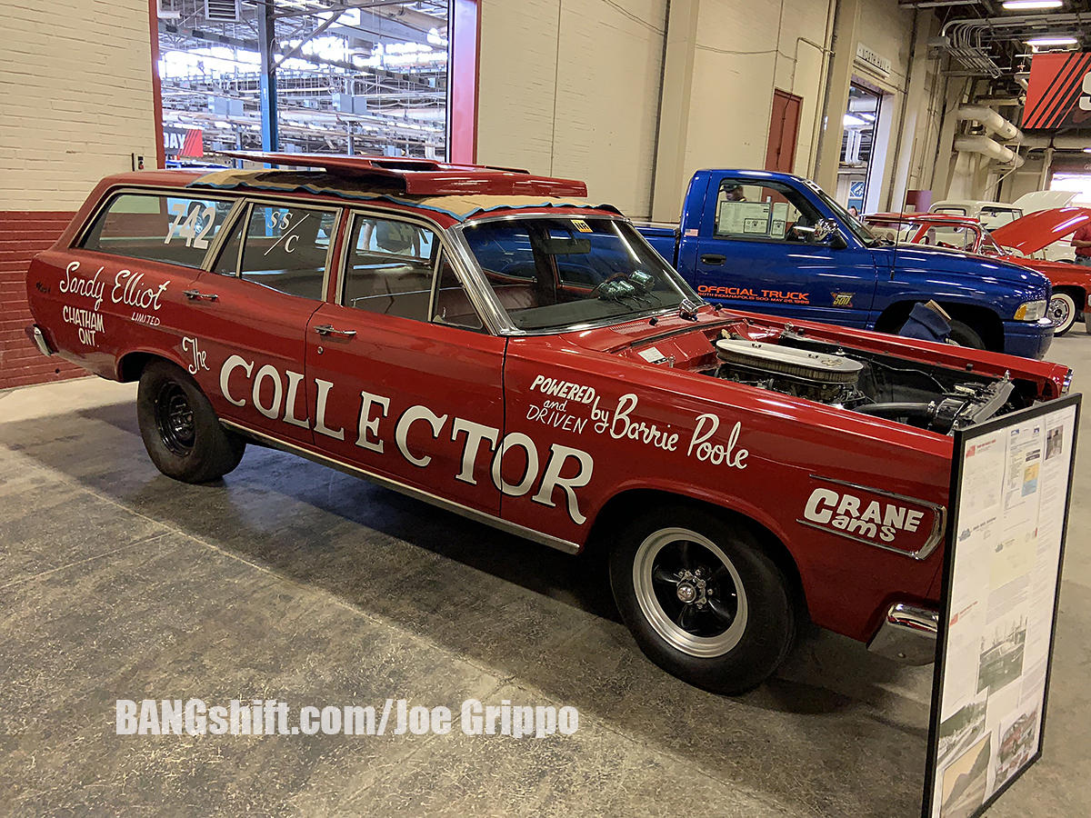
<svg viewBox="0 0 1091 818">
<path fill-rule="evenodd" d="M 84 226 L 112 192 L 180 194 L 194 179 L 185 171 L 107 178 L 35 258 L 27 292 L 53 350 L 121 381 L 134 377 L 144 356 L 167 359 L 193 375 L 236 429 L 570 551 L 591 539 L 608 506 L 648 497 L 632 492 L 732 509 L 784 546 L 812 618 L 859 640 L 875 633 L 891 602 L 936 603 L 943 549 L 921 560 L 911 554 L 942 531 L 948 436 L 696 372 L 715 364 L 712 342 L 724 329 L 775 340 L 788 322 L 704 305 L 694 321 L 664 315 L 497 336 L 341 306 L 344 214 L 411 215 L 444 241 L 458 224 L 408 196 L 223 193 L 321 203 L 343 214 L 329 237 L 325 302 L 209 269 L 79 249 Z M 515 203 L 511 212 L 618 217 Z M 1010 372 L 1039 399 L 1058 396 L 1069 374 L 998 353 L 792 324 L 811 338 L 910 365 Z M 324 325 L 355 335 L 315 332 Z"/>
</svg>

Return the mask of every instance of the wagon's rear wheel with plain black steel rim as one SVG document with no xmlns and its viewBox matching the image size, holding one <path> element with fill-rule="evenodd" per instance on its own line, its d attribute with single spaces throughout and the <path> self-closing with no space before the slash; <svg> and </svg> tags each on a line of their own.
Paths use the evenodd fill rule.
<svg viewBox="0 0 1091 818">
<path fill-rule="evenodd" d="M 239 465 L 247 447 L 220 425 L 196 382 L 170 361 L 152 361 L 144 368 L 136 418 L 152 462 L 183 483 L 223 477 Z"/>
</svg>

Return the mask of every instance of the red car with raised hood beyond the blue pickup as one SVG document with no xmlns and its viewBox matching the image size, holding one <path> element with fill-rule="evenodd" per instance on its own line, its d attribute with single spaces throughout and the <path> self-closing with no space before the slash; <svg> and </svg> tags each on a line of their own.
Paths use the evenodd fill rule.
<svg viewBox="0 0 1091 818">
<path fill-rule="evenodd" d="M 932 244 L 995 256 L 1041 273 L 1053 285 L 1046 314 L 1053 321 L 1054 334 L 1064 335 L 1080 320 L 1091 333 L 1091 310 L 1088 310 L 1091 267 L 1033 257 L 1034 253 L 1091 222 L 1091 209 L 1039 210 L 992 232 L 975 218 L 940 213 L 873 213 L 863 216 L 862 220 L 879 238 L 885 236 L 910 244 Z"/>
</svg>

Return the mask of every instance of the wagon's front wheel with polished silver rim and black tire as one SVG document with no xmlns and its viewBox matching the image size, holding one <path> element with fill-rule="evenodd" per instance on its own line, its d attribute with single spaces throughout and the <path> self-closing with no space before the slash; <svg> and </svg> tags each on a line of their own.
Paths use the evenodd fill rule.
<svg viewBox="0 0 1091 818">
<path fill-rule="evenodd" d="M 712 693 L 756 687 L 795 638 L 784 575 L 750 530 L 702 509 L 662 507 L 626 525 L 610 585 L 645 655 Z"/>
</svg>

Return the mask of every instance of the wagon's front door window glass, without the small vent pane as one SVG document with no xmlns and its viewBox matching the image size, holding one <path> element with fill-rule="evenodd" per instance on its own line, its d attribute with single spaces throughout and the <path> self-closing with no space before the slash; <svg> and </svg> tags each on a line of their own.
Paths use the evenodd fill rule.
<svg viewBox="0 0 1091 818">
<path fill-rule="evenodd" d="M 349 233 L 341 303 L 427 322 L 439 251 L 439 238 L 427 227 L 358 215 Z"/>
</svg>

